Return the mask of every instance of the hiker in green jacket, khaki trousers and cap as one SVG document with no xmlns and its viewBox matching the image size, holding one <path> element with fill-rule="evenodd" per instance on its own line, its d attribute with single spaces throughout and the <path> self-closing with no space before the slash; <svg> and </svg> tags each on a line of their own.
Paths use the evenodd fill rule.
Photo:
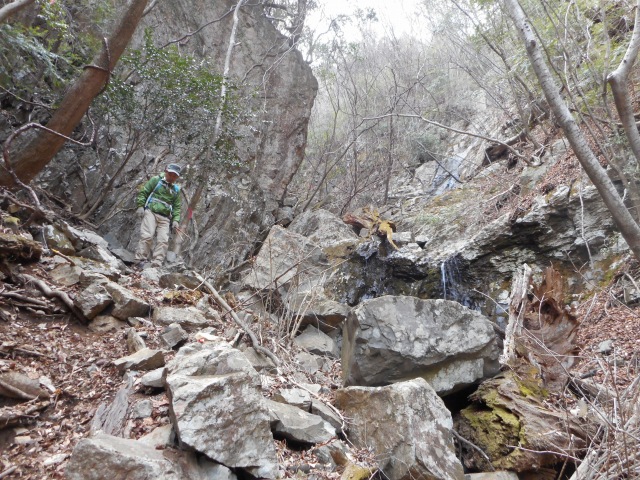
<svg viewBox="0 0 640 480">
<path fill-rule="evenodd" d="M 153 249 L 151 266 L 162 266 L 169 248 L 169 232 L 175 232 L 180 222 L 180 187 L 175 184 L 180 177 L 180 165 L 170 163 L 164 173 L 151 177 L 138 193 L 136 211 L 142 218 L 140 240 L 136 249 L 135 267 L 143 268 L 147 261 L 153 237 L 156 245 Z"/>
</svg>

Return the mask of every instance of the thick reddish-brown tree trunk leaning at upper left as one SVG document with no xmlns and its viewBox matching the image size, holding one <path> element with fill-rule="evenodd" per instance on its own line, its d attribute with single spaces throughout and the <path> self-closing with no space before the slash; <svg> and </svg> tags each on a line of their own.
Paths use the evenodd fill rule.
<svg viewBox="0 0 640 480">
<path fill-rule="evenodd" d="M 95 64 L 86 66 L 82 75 L 67 91 L 60 107 L 47 124 L 49 129 L 67 137 L 71 135 L 93 99 L 107 84 L 110 72 L 129 44 L 146 5 L 147 0 L 131 0 L 106 41 L 106 48 L 94 59 Z M 65 139 L 61 136 L 38 130 L 26 145 L 12 154 L 11 164 L 18 178 L 25 183 L 33 180 L 64 143 Z M 14 186 L 13 179 L 4 167 L 0 168 L 0 185 Z"/>
</svg>

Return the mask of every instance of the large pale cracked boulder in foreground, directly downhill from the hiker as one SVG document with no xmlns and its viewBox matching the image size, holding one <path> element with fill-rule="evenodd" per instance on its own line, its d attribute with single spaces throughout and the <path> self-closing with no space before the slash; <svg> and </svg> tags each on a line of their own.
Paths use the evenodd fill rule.
<svg viewBox="0 0 640 480">
<path fill-rule="evenodd" d="M 167 370 L 169 412 L 181 444 L 229 468 L 276 478 L 260 377 L 242 352 L 225 342 L 190 344 Z"/>
</svg>

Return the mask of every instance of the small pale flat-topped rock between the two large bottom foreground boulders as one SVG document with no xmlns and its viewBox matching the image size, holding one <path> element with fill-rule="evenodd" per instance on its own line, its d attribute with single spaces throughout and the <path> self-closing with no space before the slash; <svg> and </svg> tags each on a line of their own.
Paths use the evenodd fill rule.
<svg viewBox="0 0 640 480">
<path fill-rule="evenodd" d="M 324 443 L 335 437 L 335 430 L 322 418 L 286 403 L 264 399 L 269 410 L 271 430 L 276 438 L 299 443 Z"/>
</svg>

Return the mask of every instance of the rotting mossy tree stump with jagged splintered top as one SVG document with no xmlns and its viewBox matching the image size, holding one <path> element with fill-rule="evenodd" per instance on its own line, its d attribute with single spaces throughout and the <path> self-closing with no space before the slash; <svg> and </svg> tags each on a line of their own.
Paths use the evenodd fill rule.
<svg viewBox="0 0 640 480">
<path fill-rule="evenodd" d="M 577 353 L 578 322 L 563 298 L 553 268 L 532 286 L 525 265 L 514 280 L 501 357 L 505 370 L 484 382 L 456 417 L 458 433 L 482 449 L 495 469 L 537 471 L 578 457 L 587 446 L 580 420 L 546 401 L 566 384 Z M 467 467 L 491 468 L 479 452 L 461 447 Z"/>
</svg>

